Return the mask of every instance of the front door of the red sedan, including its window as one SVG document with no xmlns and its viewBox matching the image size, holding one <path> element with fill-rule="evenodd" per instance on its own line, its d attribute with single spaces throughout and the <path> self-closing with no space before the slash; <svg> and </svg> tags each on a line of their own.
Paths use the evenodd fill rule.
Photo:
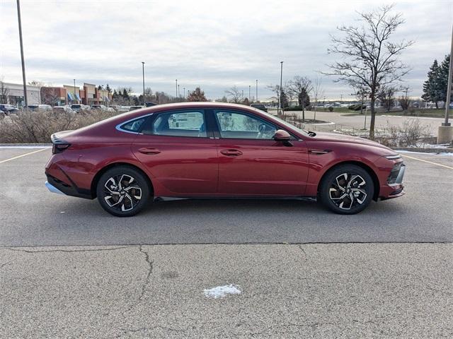
<svg viewBox="0 0 453 339">
<path fill-rule="evenodd" d="M 219 133 L 219 194 L 303 196 L 308 177 L 304 141 L 273 140 L 277 129 L 257 114 L 214 109 Z"/>
</svg>

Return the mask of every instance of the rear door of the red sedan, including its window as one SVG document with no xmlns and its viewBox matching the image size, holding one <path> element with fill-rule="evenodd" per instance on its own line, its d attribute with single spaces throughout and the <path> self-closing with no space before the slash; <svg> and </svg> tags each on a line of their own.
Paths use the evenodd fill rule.
<svg viewBox="0 0 453 339">
<path fill-rule="evenodd" d="M 153 114 L 132 144 L 160 196 L 199 196 L 217 191 L 217 147 L 204 109 Z M 211 137 L 211 138 L 210 138 Z"/>
</svg>

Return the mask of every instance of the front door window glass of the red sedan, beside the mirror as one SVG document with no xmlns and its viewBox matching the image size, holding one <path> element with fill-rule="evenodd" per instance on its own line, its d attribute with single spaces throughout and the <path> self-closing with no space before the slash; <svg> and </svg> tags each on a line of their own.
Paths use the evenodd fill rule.
<svg viewBox="0 0 453 339">
<path fill-rule="evenodd" d="M 215 111 L 222 138 L 272 139 L 277 127 L 268 121 L 240 112 Z"/>
</svg>

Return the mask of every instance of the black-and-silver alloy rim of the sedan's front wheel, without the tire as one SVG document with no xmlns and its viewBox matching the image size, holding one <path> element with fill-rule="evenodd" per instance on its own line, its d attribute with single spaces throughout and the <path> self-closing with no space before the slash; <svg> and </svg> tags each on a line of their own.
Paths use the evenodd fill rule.
<svg viewBox="0 0 453 339">
<path fill-rule="evenodd" d="M 358 174 L 342 173 L 329 187 L 329 198 L 342 210 L 362 205 L 367 198 L 367 182 Z"/>
</svg>

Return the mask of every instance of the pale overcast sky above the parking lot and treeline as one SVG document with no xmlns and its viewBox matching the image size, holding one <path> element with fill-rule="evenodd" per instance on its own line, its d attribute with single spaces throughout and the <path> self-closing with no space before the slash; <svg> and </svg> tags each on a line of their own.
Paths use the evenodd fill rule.
<svg viewBox="0 0 453 339">
<path fill-rule="evenodd" d="M 266 85 L 294 75 L 316 78 L 333 61 L 327 54 L 336 27 L 357 24 L 356 11 L 377 1 L 41 1 L 22 0 L 22 30 L 27 81 L 52 85 L 86 83 L 176 94 L 175 79 L 207 97 L 222 97 L 238 86 L 248 96 L 272 94 Z M 453 1 L 398 1 L 406 23 L 395 35 L 415 40 L 402 59 L 411 95 L 421 94 L 434 59 L 449 53 Z M 16 1 L 0 0 L 0 76 L 21 83 Z M 350 97 L 345 85 L 323 76 L 326 97 Z"/>
</svg>

